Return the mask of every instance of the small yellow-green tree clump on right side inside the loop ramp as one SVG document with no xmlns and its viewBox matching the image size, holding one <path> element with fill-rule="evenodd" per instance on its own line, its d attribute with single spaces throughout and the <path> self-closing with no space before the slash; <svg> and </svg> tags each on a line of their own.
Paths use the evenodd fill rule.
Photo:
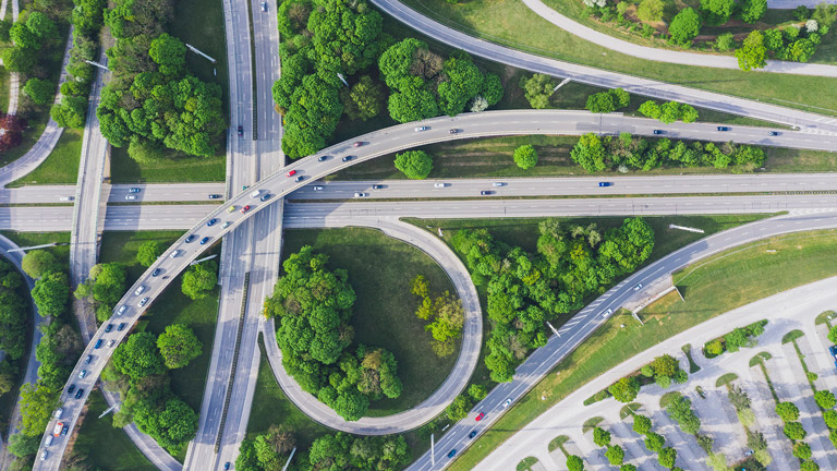
<svg viewBox="0 0 837 471">
<path fill-rule="evenodd" d="M 453 353 L 457 348 L 456 340 L 462 336 L 462 327 L 465 324 L 462 301 L 448 291 L 436 297 L 434 301 L 430 298 L 429 285 L 423 275 L 413 278 L 411 290 L 413 294 L 421 298 L 415 315 L 420 319 L 430 322 L 424 326 L 424 329 L 433 336 L 430 340 L 433 351 L 439 357 Z"/>
</svg>

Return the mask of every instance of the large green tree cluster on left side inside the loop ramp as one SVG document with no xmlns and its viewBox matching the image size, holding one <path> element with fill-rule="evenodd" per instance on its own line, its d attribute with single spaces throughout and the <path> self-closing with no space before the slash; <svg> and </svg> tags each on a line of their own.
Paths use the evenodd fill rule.
<svg viewBox="0 0 837 471">
<path fill-rule="evenodd" d="M 345 269 L 329 270 L 328 255 L 306 245 L 283 263 L 265 315 L 277 317 L 282 364 L 303 390 L 347 420 L 366 413 L 369 400 L 401 395 L 398 363 L 381 348 L 360 345 L 349 321 L 356 294 Z"/>
</svg>

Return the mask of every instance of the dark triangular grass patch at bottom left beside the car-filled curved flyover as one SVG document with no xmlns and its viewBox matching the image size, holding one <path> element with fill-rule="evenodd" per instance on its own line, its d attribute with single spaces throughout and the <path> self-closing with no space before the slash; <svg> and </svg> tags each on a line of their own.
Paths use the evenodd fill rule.
<svg viewBox="0 0 837 471">
<path fill-rule="evenodd" d="M 87 455 L 86 462 L 109 471 L 155 471 L 157 468 L 134 447 L 122 430 L 113 428 L 113 414 L 98 419 L 107 409 L 98 390 L 87 399 L 87 419 L 75 440 L 77 454 Z"/>
</svg>

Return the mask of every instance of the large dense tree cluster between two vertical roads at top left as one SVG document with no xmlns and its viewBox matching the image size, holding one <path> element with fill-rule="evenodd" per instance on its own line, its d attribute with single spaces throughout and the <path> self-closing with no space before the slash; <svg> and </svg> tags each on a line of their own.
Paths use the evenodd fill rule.
<svg viewBox="0 0 837 471">
<path fill-rule="evenodd" d="M 213 156 L 227 128 L 220 86 L 191 75 L 185 45 L 166 33 L 173 12 L 173 0 L 117 0 L 105 11 L 117 44 L 96 116 L 102 135 L 137 161 L 162 158 L 163 147 Z"/>
</svg>

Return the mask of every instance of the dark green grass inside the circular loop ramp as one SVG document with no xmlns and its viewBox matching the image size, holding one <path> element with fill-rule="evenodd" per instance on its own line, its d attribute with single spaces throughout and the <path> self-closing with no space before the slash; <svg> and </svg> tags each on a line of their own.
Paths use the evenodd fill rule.
<svg viewBox="0 0 837 471">
<path fill-rule="evenodd" d="M 355 343 L 384 347 L 398 360 L 401 397 L 373 402 L 368 415 L 400 412 L 426 399 L 448 376 L 458 351 L 444 359 L 433 353 L 426 322 L 415 316 L 418 299 L 410 281 L 424 275 L 433 295 L 454 292 L 445 271 L 424 252 L 374 229 L 291 229 L 282 250 L 287 256 L 306 244 L 328 254 L 331 268 L 349 271 L 357 293 L 351 321 Z"/>
</svg>

